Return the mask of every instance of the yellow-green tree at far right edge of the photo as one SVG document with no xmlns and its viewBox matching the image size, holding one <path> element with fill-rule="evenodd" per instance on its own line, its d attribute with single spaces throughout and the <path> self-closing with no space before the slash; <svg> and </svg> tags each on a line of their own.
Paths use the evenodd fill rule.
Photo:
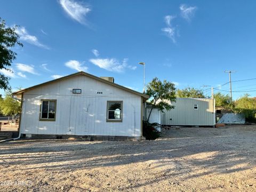
<svg viewBox="0 0 256 192">
<path fill-rule="evenodd" d="M 241 98 L 235 101 L 234 110 L 237 113 L 242 113 L 245 115 L 245 118 L 255 121 L 256 119 L 256 101 L 253 98 L 249 97 L 249 94 L 243 95 Z"/>
</svg>

